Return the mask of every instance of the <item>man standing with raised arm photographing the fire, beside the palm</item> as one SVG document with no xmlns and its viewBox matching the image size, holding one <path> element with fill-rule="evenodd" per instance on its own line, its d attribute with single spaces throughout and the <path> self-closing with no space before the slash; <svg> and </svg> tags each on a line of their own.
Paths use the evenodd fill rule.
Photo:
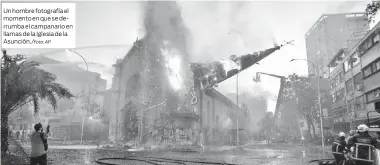
<svg viewBox="0 0 380 165">
<path fill-rule="evenodd" d="M 31 135 L 30 165 L 47 165 L 47 138 L 50 132 L 47 126 L 46 133 L 43 132 L 42 124 L 34 125 L 34 132 Z"/>
</svg>

